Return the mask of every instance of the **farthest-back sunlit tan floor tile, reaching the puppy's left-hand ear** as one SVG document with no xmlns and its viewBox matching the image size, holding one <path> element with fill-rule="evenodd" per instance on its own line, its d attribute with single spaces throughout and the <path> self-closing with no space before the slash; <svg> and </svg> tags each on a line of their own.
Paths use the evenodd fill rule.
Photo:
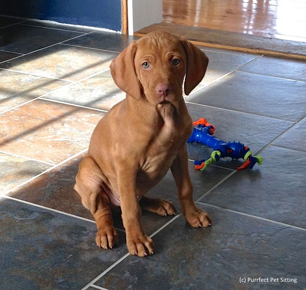
<svg viewBox="0 0 306 290">
<path fill-rule="evenodd" d="M 0 67 L 42 77 L 78 81 L 109 68 L 117 55 L 118 53 L 115 52 L 57 44 L 12 61 L 3 62 Z"/>
</svg>

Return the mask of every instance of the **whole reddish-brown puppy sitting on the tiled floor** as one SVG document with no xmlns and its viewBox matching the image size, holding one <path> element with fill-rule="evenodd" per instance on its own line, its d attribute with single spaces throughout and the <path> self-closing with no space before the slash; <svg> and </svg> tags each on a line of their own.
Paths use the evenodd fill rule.
<svg viewBox="0 0 306 290">
<path fill-rule="evenodd" d="M 192 198 L 186 149 L 192 119 L 182 90 L 185 74 L 188 95 L 207 64 L 199 48 L 166 32 L 133 41 L 111 63 L 111 74 L 126 98 L 96 126 L 74 187 L 95 218 L 99 247 L 112 248 L 118 241 L 110 210 L 115 205 L 121 207 L 129 253 L 153 254 L 153 241 L 141 226 L 141 208 L 160 215 L 175 213 L 172 202 L 144 196 L 169 168 L 187 222 L 195 228 L 211 224 Z"/>
</svg>

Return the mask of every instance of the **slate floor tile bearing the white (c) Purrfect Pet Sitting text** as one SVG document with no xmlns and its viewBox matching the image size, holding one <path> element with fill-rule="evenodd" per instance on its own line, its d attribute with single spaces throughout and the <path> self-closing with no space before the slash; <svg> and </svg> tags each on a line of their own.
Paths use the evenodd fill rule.
<svg viewBox="0 0 306 290">
<path fill-rule="evenodd" d="M 209 228 L 183 217 L 153 237 L 154 255 L 128 256 L 95 285 L 110 290 L 291 290 L 306 284 L 306 232 L 210 207 Z M 279 282 L 239 284 L 240 277 Z M 281 277 L 297 279 L 280 282 Z"/>
</svg>

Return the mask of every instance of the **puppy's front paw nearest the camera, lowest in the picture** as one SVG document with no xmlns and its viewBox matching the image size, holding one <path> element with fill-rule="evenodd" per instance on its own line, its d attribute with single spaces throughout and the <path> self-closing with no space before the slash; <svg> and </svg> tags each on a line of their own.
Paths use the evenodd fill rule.
<svg viewBox="0 0 306 290">
<path fill-rule="evenodd" d="M 126 245 L 131 255 L 145 257 L 148 254 L 154 254 L 153 240 L 147 235 L 129 235 L 126 237 Z"/>
</svg>

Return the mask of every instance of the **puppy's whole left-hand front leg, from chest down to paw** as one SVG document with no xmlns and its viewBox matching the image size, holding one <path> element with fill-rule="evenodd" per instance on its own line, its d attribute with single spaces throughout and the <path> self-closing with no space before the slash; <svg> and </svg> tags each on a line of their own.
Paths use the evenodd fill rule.
<svg viewBox="0 0 306 290">
<path fill-rule="evenodd" d="M 140 257 L 153 254 L 154 243 L 141 226 L 141 208 L 136 193 L 137 169 L 133 168 L 132 164 L 121 163 L 116 171 L 122 221 L 129 253 Z"/>
</svg>

